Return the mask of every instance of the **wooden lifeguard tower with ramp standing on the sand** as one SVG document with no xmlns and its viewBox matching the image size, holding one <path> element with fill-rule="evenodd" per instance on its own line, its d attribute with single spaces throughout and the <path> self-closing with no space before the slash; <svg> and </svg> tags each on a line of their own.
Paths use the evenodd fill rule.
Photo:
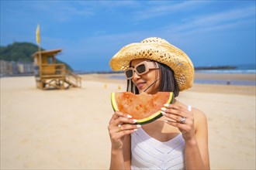
<svg viewBox="0 0 256 170">
<path fill-rule="evenodd" d="M 38 51 L 33 54 L 36 87 L 47 89 L 67 89 L 81 87 L 81 77 L 67 70 L 64 63 L 56 63 L 55 56 L 61 49 Z"/>
</svg>

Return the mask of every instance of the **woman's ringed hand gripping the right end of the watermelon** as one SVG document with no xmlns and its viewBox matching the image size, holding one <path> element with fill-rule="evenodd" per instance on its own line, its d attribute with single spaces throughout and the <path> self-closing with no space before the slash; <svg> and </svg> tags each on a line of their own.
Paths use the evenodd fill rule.
<svg viewBox="0 0 256 170">
<path fill-rule="evenodd" d="M 195 138 L 194 116 L 192 111 L 174 104 L 164 104 L 161 113 L 167 117 L 167 124 L 177 127 L 185 141 Z"/>
</svg>

